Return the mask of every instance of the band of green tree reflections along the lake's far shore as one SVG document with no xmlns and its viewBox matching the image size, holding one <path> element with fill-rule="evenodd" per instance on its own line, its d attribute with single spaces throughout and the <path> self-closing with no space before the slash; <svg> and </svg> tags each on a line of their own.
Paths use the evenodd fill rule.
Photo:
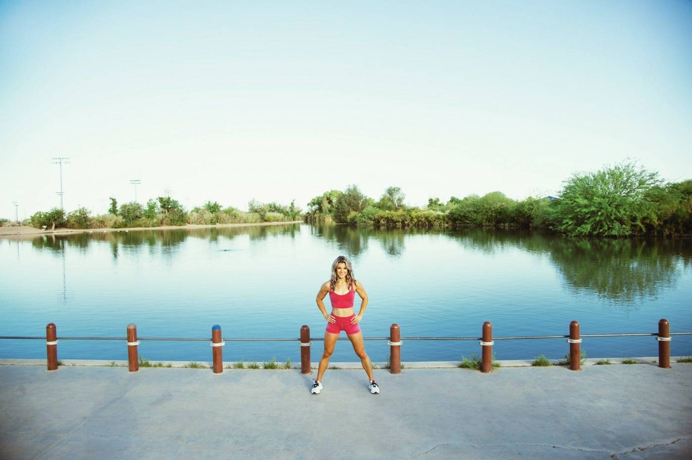
<svg viewBox="0 0 692 460">
<path fill-rule="evenodd" d="M 114 232 L 44 235 L 31 244 L 63 257 L 66 248 L 80 252 L 91 244 L 110 243 L 113 261 L 121 253 L 137 257 L 146 245 L 150 255 L 161 254 L 174 261 L 178 246 L 189 238 L 212 242 L 247 236 L 251 241 L 300 232 L 298 224 L 251 227 L 218 227 L 174 230 L 125 230 Z M 576 239 L 541 232 L 496 228 L 388 229 L 318 224 L 309 227 L 311 236 L 336 244 L 340 253 L 358 257 L 368 250 L 371 240 L 381 244 L 390 257 L 401 257 L 406 238 L 418 234 L 444 235 L 468 250 L 495 254 L 518 248 L 545 255 L 575 292 L 594 293 L 611 302 L 632 302 L 653 297 L 672 286 L 684 267 L 692 264 L 692 239 Z"/>
</svg>

